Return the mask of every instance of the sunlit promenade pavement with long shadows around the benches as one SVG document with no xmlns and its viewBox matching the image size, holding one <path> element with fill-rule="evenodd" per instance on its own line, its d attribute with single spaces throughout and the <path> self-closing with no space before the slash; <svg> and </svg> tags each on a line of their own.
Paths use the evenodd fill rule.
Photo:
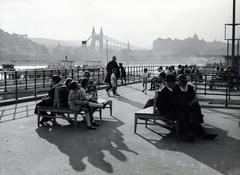
<svg viewBox="0 0 240 175">
<path fill-rule="evenodd" d="M 96 131 L 61 119 L 38 128 L 35 101 L 0 107 L 0 175 L 240 174 L 239 109 L 203 108 L 204 126 L 219 135 L 213 141 L 189 143 L 160 126 L 139 125 L 134 134 L 134 112 L 154 94 L 141 90 L 119 87 L 121 96 L 110 97 L 113 116 L 105 109 Z"/>
</svg>

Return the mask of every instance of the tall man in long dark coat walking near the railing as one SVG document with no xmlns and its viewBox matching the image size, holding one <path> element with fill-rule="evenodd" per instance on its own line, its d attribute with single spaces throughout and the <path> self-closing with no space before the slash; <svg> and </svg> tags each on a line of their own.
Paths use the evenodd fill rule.
<svg viewBox="0 0 240 175">
<path fill-rule="evenodd" d="M 120 77 L 120 71 L 119 71 L 118 63 L 116 60 L 117 60 L 116 56 L 113 56 L 112 61 L 108 62 L 108 64 L 107 64 L 107 76 L 105 78 L 105 82 L 108 83 L 108 85 L 109 85 L 109 87 L 107 87 L 107 89 L 106 89 L 108 96 L 110 96 L 109 93 L 110 93 L 110 90 L 112 89 L 111 75 L 113 73 L 112 70 L 114 68 L 116 69 L 116 74 L 115 74 L 116 79 L 118 79 Z M 112 89 L 113 95 L 118 95 L 116 93 L 116 90 L 117 90 L 117 88 Z"/>
</svg>

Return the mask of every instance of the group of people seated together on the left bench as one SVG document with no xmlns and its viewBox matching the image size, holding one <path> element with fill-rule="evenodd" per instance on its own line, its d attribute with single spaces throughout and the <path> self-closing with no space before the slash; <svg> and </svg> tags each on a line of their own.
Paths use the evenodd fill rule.
<svg viewBox="0 0 240 175">
<path fill-rule="evenodd" d="M 79 82 L 67 78 L 64 83 L 61 83 L 61 78 L 58 75 L 54 75 L 51 79 L 52 88 L 48 91 L 48 95 L 36 105 L 35 114 L 38 114 L 38 106 L 70 108 L 77 112 L 84 111 L 87 129 L 95 130 L 95 126 L 99 126 L 99 124 L 94 121 L 93 113 L 98 108 L 104 109 L 109 101 L 103 103 L 97 102 L 97 89 L 96 86 L 93 86 L 92 83 L 89 82 L 89 78 L 90 73 L 86 71 Z M 59 105 L 55 105 L 55 92 L 58 88 L 62 88 L 62 90 L 59 92 Z M 51 118 L 44 116 L 55 115 L 54 113 L 48 114 L 45 111 L 41 111 L 40 114 L 43 116 L 40 121 L 41 125 L 45 125 L 48 121 L 51 121 Z M 57 114 L 64 116 L 62 113 Z M 64 118 L 72 123 L 70 118 Z"/>
</svg>

